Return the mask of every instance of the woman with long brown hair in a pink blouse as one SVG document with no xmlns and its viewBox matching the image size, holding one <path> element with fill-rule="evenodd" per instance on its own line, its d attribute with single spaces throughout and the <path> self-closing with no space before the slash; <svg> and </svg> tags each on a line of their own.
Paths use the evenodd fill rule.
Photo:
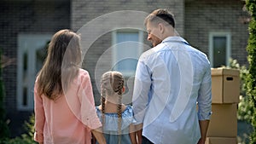
<svg viewBox="0 0 256 144">
<path fill-rule="evenodd" d="M 44 144 L 89 144 L 90 130 L 105 144 L 97 118 L 89 73 L 81 68 L 80 37 L 56 32 L 34 88 L 34 140 Z M 61 69 L 62 67 L 62 69 Z"/>
</svg>

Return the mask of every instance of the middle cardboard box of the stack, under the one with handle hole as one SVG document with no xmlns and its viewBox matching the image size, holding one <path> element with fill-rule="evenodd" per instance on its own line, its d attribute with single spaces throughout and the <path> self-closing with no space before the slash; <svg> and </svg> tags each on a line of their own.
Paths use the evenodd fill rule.
<svg viewBox="0 0 256 144">
<path fill-rule="evenodd" d="M 207 131 L 208 137 L 236 137 L 237 104 L 212 104 L 212 116 Z"/>
</svg>

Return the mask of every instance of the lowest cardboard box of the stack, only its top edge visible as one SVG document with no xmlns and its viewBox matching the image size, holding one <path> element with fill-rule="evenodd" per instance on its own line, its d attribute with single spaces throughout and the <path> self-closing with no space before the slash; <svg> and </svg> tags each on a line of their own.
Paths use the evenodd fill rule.
<svg viewBox="0 0 256 144">
<path fill-rule="evenodd" d="M 236 137 L 207 137 L 206 144 L 237 144 Z"/>
</svg>

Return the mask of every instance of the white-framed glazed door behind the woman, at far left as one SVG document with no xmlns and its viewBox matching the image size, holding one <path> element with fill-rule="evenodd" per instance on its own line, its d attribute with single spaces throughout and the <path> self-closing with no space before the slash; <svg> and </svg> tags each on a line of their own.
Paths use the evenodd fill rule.
<svg viewBox="0 0 256 144">
<path fill-rule="evenodd" d="M 47 55 L 47 45 L 51 35 L 20 34 L 18 36 L 18 77 L 17 108 L 33 109 L 33 89 L 36 74 L 41 69 Z"/>
</svg>

